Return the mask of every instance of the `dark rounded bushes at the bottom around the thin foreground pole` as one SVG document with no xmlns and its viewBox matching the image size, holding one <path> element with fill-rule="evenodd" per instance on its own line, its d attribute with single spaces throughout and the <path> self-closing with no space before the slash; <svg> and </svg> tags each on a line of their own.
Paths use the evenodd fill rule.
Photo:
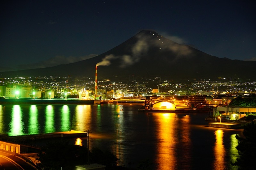
<svg viewBox="0 0 256 170">
<path fill-rule="evenodd" d="M 76 165 L 84 165 L 88 162 L 88 150 L 85 146 L 72 145 L 66 140 L 56 140 L 47 143 L 38 153 L 38 166 L 44 169 L 76 169 Z M 89 163 L 106 165 L 106 170 L 117 168 L 118 158 L 109 151 L 101 151 L 92 148 L 89 151 Z"/>
</svg>

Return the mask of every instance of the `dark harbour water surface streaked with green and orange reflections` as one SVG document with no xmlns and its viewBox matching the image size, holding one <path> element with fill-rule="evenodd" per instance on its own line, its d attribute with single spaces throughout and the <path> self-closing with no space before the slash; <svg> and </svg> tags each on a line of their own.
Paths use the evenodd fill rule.
<svg viewBox="0 0 256 170">
<path fill-rule="evenodd" d="M 236 134 L 207 127 L 208 113 L 143 113 L 141 104 L 0 105 L 0 134 L 90 130 L 90 147 L 109 150 L 120 165 L 149 159 L 154 169 L 237 169 Z M 83 139 L 86 145 L 86 139 Z"/>
</svg>

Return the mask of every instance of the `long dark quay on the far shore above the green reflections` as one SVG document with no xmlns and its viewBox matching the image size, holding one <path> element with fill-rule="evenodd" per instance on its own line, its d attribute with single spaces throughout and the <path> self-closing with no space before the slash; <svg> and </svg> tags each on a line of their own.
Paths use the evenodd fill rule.
<svg viewBox="0 0 256 170">
<path fill-rule="evenodd" d="M 0 98 L 0 104 L 93 104 L 94 100 L 80 100 L 76 98 Z"/>
</svg>

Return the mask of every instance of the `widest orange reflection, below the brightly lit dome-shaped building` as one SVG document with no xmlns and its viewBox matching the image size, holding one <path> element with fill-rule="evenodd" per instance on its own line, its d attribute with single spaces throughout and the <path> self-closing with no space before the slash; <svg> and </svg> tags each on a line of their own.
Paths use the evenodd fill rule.
<svg viewBox="0 0 256 170">
<path fill-rule="evenodd" d="M 175 139 L 175 125 L 174 120 L 176 115 L 174 113 L 156 113 L 153 114 L 156 121 L 159 123 L 158 146 L 156 161 L 159 167 L 157 169 L 175 169 L 176 156 L 173 146 L 177 143 Z"/>
</svg>

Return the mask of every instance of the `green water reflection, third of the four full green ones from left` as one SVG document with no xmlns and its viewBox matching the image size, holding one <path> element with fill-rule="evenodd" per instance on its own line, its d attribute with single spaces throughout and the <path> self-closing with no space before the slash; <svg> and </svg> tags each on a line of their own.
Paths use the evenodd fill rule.
<svg viewBox="0 0 256 170">
<path fill-rule="evenodd" d="M 51 133 L 54 132 L 54 110 L 52 105 L 48 105 L 45 108 L 45 116 L 46 116 L 46 121 L 45 121 L 45 133 Z"/>
</svg>

